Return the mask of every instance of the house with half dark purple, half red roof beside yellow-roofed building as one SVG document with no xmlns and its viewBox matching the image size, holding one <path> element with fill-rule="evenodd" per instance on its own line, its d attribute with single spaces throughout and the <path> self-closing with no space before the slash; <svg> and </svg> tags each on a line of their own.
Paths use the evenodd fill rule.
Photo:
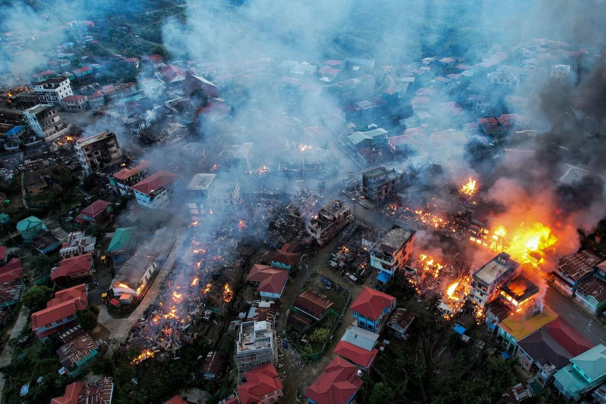
<svg viewBox="0 0 606 404">
<path fill-rule="evenodd" d="M 539 382 L 546 385 L 553 374 L 568 365 L 570 359 L 593 348 L 579 331 L 558 317 L 518 341 L 518 357 L 525 371 L 536 371 Z"/>
</svg>

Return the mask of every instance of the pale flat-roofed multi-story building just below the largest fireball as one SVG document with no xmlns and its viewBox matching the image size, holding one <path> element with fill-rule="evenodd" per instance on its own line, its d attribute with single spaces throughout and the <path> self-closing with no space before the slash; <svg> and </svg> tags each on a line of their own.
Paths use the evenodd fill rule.
<svg viewBox="0 0 606 404">
<path fill-rule="evenodd" d="M 498 296 L 502 286 L 516 274 L 520 264 L 507 253 L 501 253 L 471 276 L 470 298 L 482 310 Z"/>
</svg>

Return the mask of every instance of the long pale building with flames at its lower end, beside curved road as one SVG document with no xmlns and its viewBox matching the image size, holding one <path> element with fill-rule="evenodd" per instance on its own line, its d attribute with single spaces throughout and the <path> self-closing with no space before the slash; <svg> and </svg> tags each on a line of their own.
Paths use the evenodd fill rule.
<svg viewBox="0 0 606 404">
<path fill-rule="evenodd" d="M 113 277 L 112 293 L 121 304 L 139 302 L 159 268 L 150 256 L 136 255 L 122 264 Z"/>
</svg>

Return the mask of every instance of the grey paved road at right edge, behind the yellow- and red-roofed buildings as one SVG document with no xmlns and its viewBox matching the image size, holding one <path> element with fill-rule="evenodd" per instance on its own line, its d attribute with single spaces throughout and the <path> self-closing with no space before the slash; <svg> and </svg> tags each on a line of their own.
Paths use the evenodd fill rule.
<svg viewBox="0 0 606 404">
<path fill-rule="evenodd" d="M 554 290 L 552 286 L 549 286 L 547 294 L 545 294 L 545 305 L 563 317 L 594 344 L 606 343 L 606 330 L 570 299 Z"/>
</svg>

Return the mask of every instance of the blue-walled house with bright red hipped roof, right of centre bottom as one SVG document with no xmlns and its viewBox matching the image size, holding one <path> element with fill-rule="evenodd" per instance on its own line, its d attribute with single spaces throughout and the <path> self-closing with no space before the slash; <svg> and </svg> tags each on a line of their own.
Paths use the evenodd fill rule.
<svg viewBox="0 0 606 404">
<path fill-rule="evenodd" d="M 382 326 L 391 311 L 396 308 L 396 298 L 365 286 L 356 300 L 351 303 L 353 318 L 358 320 L 360 328 L 381 332 Z"/>
</svg>

